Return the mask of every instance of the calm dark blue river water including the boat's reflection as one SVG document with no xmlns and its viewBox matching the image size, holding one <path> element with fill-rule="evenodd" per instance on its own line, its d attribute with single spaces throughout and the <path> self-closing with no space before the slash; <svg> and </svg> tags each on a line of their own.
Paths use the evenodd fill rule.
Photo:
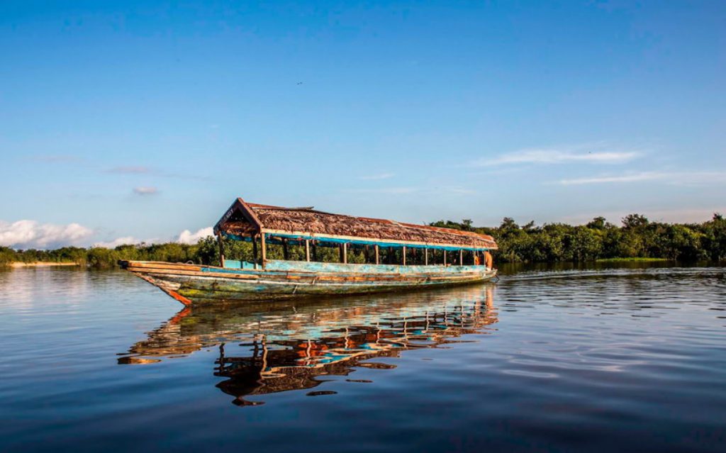
<svg viewBox="0 0 726 453">
<path fill-rule="evenodd" d="M 0 272 L 0 451 L 726 451 L 723 268 L 180 309 Z"/>
</svg>

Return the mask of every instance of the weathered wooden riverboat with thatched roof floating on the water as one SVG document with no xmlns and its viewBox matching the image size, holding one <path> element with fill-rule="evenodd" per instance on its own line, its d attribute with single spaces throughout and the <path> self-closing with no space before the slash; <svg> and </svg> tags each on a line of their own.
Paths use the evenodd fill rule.
<svg viewBox="0 0 726 453">
<path fill-rule="evenodd" d="M 185 305 L 440 287 L 484 282 L 497 274 L 496 269 L 473 264 L 479 254 L 497 248 L 492 237 L 455 229 L 258 205 L 237 198 L 214 232 L 220 266 L 120 264 Z M 223 237 L 250 242 L 252 260 L 225 259 Z M 284 259 L 268 259 L 268 247 L 282 248 Z M 304 247 L 305 261 L 290 259 L 292 247 Z M 338 248 L 340 262 L 315 261 L 319 247 Z M 366 262 L 348 263 L 351 251 Z M 388 263 L 382 264 L 386 260 L 381 258 Z M 465 264 L 465 258 L 471 264 Z M 436 259 L 441 262 L 434 264 Z"/>
</svg>

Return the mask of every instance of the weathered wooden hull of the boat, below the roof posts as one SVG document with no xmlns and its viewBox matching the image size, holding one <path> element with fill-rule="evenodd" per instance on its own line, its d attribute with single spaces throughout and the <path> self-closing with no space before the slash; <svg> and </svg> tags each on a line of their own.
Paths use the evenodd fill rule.
<svg viewBox="0 0 726 453">
<path fill-rule="evenodd" d="M 265 269 L 229 269 L 155 261 L 120 264 L 186 305 L 383 293 L 485 282 L 497 275 L 496 269 L 484 266 L 269 261 Z"/>
</svg>

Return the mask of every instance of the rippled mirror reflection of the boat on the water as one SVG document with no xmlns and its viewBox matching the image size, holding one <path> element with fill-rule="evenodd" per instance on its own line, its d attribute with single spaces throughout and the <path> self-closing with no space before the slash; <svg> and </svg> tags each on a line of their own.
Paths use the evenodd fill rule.
<svg viewBox="0 0 726 453">
<path fill-rule="evenodd" d="M 492 284 L 327 301 L 187 307 L 118 362 L 159 362 L 219 347 L 214 375 L 227 380 L 216 386 L 234 396 L 234 404 L 256 405 L 261 401 L 245 396 L 314 388 L 324 382 L 319 376 L 346 376 L 356 367 L 393 368 L 370 359 L 436 348 L 464 334 L 486 332 L 495 322 Z M 309 394 L 321 393 L 335 392 Z"/>
</svg>

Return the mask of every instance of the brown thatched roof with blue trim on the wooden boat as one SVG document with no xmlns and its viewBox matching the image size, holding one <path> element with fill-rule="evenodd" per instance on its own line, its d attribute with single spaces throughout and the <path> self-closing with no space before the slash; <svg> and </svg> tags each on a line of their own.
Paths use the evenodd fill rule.
<svg viewBox="0 0 726 453">
<path fill-rule="evenodd" d="M 311 207 L 245 203 L 242 198 L 222 216 L 215 233 L 248 237 L 262 232 L 270 236 L 315 239 L 321 242 L 370 243 L 382 246 L 409 245 L 436 248 L 496 249 L 491 236 L 458 229 L 406 224 L 393 220 L 344 216 Z"/>
</svg>

